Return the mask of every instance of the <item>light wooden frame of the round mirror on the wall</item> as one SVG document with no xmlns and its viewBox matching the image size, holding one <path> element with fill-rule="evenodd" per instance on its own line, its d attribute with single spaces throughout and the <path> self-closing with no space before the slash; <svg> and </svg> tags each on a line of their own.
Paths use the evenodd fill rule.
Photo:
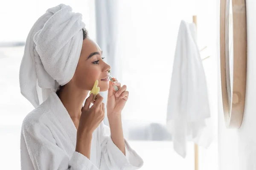
<svg viewBox="0 0 256 170">
<path fill-rule="evenodd" d="M 245 0 L 232 0 L 233 11 L 233 90 L 229 80 L 229 8 L 230 0 L 220 0 L 221 92 L 227 128 L 239 128 L 244 115 L 246 88 L 246 6 Z M 227 55 L 227 57 L 226 57 Z M 229 91 L 231 94 L 228 94 Z"/>
</svg>

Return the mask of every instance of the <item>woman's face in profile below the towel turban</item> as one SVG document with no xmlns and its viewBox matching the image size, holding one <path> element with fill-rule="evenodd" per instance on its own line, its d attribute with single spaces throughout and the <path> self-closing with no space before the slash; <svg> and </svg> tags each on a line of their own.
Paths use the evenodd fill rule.
<svg viewBox="0 0 256 170">
<path fill-rule="evenodd" d="M 72 79 L 79 89 L 90 91 L 96 80 L 100 91 L 107 91 L 110 65 L 102 59 L 102 50 L 89 37 L 84 39 L 76 72 Z"/>
</svg>

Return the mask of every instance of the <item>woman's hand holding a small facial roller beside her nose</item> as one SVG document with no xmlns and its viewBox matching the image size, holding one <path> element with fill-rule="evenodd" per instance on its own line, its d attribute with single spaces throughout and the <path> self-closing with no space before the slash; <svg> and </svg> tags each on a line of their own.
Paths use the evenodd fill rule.
<svg viewBox="0 0 256 170">
<path fill-rule="evenodd" d="M 126 85 L 121 87 L 121 84 L 117 82 L 115 78 L 113 78 L 115 82 L 109 81 L 109 89 L 108 89 L 108 101 L 107 101 L 107 113 L 109 115 L 120 115 L 123 108 L 125 107 L 125 103 L 128 100 L 129 92 L 126 91 Z M 115 91 L 113 85 L 118 87 L 118 91 Z"/>
</svg>

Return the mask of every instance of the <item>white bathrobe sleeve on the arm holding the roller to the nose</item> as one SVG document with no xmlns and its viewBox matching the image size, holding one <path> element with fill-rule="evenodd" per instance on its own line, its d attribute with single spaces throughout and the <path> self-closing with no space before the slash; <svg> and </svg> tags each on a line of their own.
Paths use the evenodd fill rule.
<svg viewBox="0 0 256 170">
<path fill-rule="evenodd" d="M 113 143 L 110 128 L 102 122 L 99 129 L 102 148 L 101 164 L 109 170 L 137 170 L 143 166 L 143 159 L 130 147 L 125 139 L 125 155 Z M 102 166 L 101 166 L 102 167 Z"/>
</svg>

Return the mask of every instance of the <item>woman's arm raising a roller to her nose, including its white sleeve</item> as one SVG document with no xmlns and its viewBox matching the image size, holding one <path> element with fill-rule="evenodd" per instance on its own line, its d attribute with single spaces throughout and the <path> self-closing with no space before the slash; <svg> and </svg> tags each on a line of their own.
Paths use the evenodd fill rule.
<svg viewBox="0 0 256 170">
<path fill-rule="evenodd" d="M 124 139 L 121 119 L 121 112 L 128 100 L 129 92 L 126 91 L 126 85 L 121 87 L 115 78 L 113 80 L 115 82 L 109 82 L 107 101 L 110 127 L 102 122 L 98 130 L 98 140 L 103 155 L 100 163 L 110 170 L 136 170 L 143 166 L 143 160 Z M 113 85 L 117 86 L 118 91 L 113 91 Z"/>
</svg>

